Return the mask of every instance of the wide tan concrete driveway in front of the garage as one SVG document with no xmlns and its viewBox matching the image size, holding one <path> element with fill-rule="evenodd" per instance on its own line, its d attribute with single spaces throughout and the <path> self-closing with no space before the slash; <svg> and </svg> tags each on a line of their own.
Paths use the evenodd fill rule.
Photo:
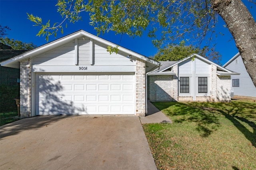
<svg viewBox="0 0 256 170">
<path fill-rule="evenodd" d="M 1 170 L 156 170 L 136 116 L 38 116 L 0 128 Z"/>
</svg>

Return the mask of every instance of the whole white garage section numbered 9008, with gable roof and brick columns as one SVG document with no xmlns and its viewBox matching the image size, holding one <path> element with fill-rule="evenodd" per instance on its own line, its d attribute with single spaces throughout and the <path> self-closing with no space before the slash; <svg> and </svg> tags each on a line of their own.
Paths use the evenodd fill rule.
<svg viewBox="0 0 256 170">
<path fill-rule="evenodd" d="M 146 73 L 160 63 L 83 30 L 1 63 L 20 68 L 20 115 L 145 116 Z"/>
</svg>

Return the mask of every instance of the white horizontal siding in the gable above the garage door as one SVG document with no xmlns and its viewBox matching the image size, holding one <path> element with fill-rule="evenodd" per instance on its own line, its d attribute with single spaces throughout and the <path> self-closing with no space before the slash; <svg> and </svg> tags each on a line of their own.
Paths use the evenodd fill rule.
<svg viewBox="0 0 256 170">
<path fill-rule="evenodd" d="M 118 51 L 118 53 L 110 54 L 107 51 L 107 45 L 100 43 L 98 41 L 93 41 L 92 47 L 90 46 L 90 39 L 88 37 L 83 37 L 78 39 L 77 45 L 77 55 L 75 52 L 75 41 L 73 40 L 70 43 L 57 47 L 52 51 L 47 51 L 44 54 L 38 55 L 37 57 L 33 58 L 32 65 L 33 68 L 36 68 L 36 72 L 44 72 L 46 66 L 77 66 L 76 59 L 78 59 L 78 67 L 81 65 L 85 66 L 95 66 L 95 69 L 91 68 L 88 71 L 97 71 L 99 66 L 108 66 L 108 71 L 113 71 L 113 66 L 121 66 L 123 68 L 126 67 L 133 67 L 131 71 L 133 72 L 136 67 L 136 62 L 134 57 L 127 57 L 130 54 L 126 54 L 123 52 Z M 94 51 L 91 51 L 94 50 Z M 90 56 L 90 55 L 93 55 Z M 93 65 L 91 65 L 90 60 L 93 59 Z M 97 67 L 97 68 L 96 68 Z M 48 67 L 47 67 L 48 68 Z M 64 68 L 64 67 L 62 67 Z M 65 67 L 66 68 L 66 67 Z M 50 68 L 47 70 L 48 72 L 57 72 L 56 69 Z M 74 70 L 67 70 L 74 72 Z M 81 71 L 78 70 L 77 71 Z M 88 72 L 87 71 L 87 72 Z M 102 71 L 102 70 L 98 70 Z M 118 70 L 115 70 L 118 71 Z M 120 70 L 122 71 L 122 70 Z"/>
</svg>

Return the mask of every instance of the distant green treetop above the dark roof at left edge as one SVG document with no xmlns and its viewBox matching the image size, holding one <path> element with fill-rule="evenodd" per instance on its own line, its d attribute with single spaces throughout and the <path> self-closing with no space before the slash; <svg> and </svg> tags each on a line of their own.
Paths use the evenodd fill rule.
<svg viewBox="0 0 256 170">
<path fill-rule="evenodd" d="M 10 39 L 8 37 L 1 37 L 0 42 L 9 45 L 13 50 L 30 50 L 36 48 L 36 45 L 33 43 L 23 43 L 22 41 Z"/>
</svg>

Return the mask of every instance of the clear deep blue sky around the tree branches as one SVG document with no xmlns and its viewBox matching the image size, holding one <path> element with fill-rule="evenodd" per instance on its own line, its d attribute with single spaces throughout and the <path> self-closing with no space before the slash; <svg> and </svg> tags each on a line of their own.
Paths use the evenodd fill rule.
<svg viewBox="0 0 256 170">
<path fill-rule="evenodd" d="M 246 0 L 242 1 L 248 6 Z M 62 20 L 62 17 L 57 12 L 57 7 L 55 6 L 56 2 L 57 0 L 0 0 L 0 24 L 2 26 L 7 25 L 11 29 L 10 31 L 7 31 L 8 35 L 6 36 L 26 43 L 32 42 L 37 46 L 46 44 L 47 41 L 45 40 L 45 37 L 36 36 L 39 27 L 33 26 L 33 23 L 27 19 L 28 17 L 26 13 L 41 17 L 43 23 L 46 23 L 48 20 L 50 20 L 51 23 L 59 22 Z M 256 19 L 255 8 L 256 6 L 248 8 L 254 17 L 254 20 Z M 80 29 L 96 35 L 94 28 L 89 25 L 88 15 L 84 13 L 82 14 L 82 17 L 83 21 L 78 21 L 75 24 L 68 23 L 68 27 L 64 28 L 64 34 L 58 32 L 57 37 L 50 36 L 48 42 Z M 217 39 L 212 42 L 213 44 L 216 44 L 216 51 L 219 51 L 222 55 L 222 64 L 226 63 L 231 57 L 238 53 L 232 35 L 223 25 L 225 25 L 225 23 L 219 17 L 216 31 L 221 32 L 224 35 L 219 35 Z M 114 33 L 109 32 L 105 33 L 103 36 L 100 35 L 99 37 L 111 41 L 112 43 L 120 44 L 122 47 L 147 57 L 154 56 L 157 52 L 157 49 L 154 48 L 151 43 L 152 39 L 148 38 L 146 34 L 142 35 L 142 37 L 133 39 L 127 35 L 123 35 L 121 38 L 121 35 L 115 35 Z M 202 45 L 204 45 L 204 42 Z"/>
</svg>

